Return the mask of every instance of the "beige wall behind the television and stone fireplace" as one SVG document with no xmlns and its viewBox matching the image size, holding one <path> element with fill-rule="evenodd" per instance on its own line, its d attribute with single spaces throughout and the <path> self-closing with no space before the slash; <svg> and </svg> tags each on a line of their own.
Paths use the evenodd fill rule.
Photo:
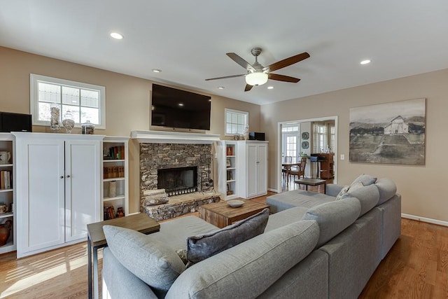
<svg viewBox="0 0 448 299">
<path fill-rule="evenodd" d="M 132 130 L 149 130 L 152 81 L 80 64 L 0 47 L 0 111 L 30 113 L 29 74 L 38 74 L 106 87 L 106 130 L 95 134 L 130 136 Z M 211 95 L 210 134 L 224 137 L 224 109 L 249 112 L 249 127 L 260 130 L 260 106 Z M 151 127 L 151 130 L 160 130 Z M 34 132 L 50 132 L 33 127 Z M 63 130 L 61 130 L 63 132 Z M 80 129 L 73 133 L 79 134 Z M 130 212 L 139 210 L 139 145 L 130 142 Z"/>
</svg>

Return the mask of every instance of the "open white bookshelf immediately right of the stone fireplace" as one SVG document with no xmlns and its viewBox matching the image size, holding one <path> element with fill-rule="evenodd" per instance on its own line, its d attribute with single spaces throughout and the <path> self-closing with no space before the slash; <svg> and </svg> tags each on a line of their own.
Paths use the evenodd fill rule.
<svg viewBox="0 0 448 299">
<path fill-rule="evenodd" d="M 223 200 L 238 197 L 237 191 L 237 141 L 216 141 L 218 160 L 218 192 Z"/>
</svg>

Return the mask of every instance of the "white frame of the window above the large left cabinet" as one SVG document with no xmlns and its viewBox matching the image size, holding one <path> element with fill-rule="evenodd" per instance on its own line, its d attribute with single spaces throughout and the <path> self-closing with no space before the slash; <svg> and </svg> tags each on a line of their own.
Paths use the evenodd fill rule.
<svg viewBox="0 0 448 299">
<path fill-rule="evenodd" d="M 38 120 L 38 83 L 50 83 L 71 88 L 96 90 L 99 92 L 99 125 L 94 124 L 95 129 L 106 129 L 106 88 L 101 85 L 93 85 L 77 81 L 70 81 L 49 76 L 29 74 L 29 109 L 32 116 L 32 125 L 50 126 L 50 120 Z M 81 127 L 81 123 L 75 123 L 75 127 Z"/>
</svg>

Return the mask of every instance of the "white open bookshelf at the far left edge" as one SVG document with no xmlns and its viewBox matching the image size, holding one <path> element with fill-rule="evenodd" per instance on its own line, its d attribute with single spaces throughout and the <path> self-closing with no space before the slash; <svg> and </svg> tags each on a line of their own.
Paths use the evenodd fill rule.
<svg viewBox="0 0 448 299">
<path fill-rule="evenodd" d="M 15 246 L 15 194 L 14 194 L 14 137 L 0 133 L 0 225 L 10 228 L 6 244 L 0 246 L 0 254 L 14 251 Z"/>
</svg>

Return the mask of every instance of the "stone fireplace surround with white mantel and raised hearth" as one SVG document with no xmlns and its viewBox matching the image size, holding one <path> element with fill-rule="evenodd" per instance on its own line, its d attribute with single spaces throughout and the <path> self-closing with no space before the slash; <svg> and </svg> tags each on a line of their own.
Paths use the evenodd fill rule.
<svg viewBox="0 0 448 299">
<path fill-rule="evenodd" d="M 144 202 L 144 190 L 158 189 L 158 169 L 197 167 L 198 192 L 169 197 L 167 204 L 143 207 L 141 210 L 160 221 L 197 211 L 202 204 L 218 202 L 220 194 L 209 184 L 212 178 L 213 156 L 211 144 L 219 135 L 132 131 L 131 138 L 140 144 L 140 202 Z"/>
</svg>

